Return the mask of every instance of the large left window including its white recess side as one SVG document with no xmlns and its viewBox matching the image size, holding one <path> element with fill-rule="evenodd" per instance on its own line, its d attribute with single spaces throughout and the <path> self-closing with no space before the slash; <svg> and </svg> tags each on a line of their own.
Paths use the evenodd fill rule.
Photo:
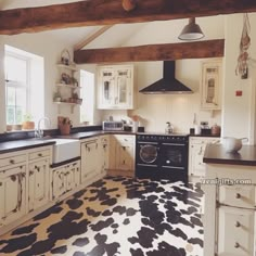
<svg viewBox="0 0 256 256">
<path fill-rule="evenodd" d="M 43 57 L 5 46 L 7 125 L 20 125 L 24 117 L 37 121 L 44 116 Z"/>
</svg>

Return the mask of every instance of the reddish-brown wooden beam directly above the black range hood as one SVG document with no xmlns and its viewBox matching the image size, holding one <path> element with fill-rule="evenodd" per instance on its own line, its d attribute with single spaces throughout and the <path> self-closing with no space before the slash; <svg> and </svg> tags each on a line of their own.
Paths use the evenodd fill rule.
<svg viewBox="0 0 256 256">
<path fill-rule="evenodd" d="M 140 47 L 90 49 L 74 52 L 77 64 L 167 61 L 223 56 L 225 40 L 150 44 Z"/>
</svg>

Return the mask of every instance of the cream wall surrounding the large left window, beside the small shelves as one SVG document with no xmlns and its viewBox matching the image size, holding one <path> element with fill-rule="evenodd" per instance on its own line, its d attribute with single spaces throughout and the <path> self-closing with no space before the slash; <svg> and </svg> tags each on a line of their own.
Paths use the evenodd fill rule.
<svg viewBox="0 0 256 256">
<path fill-rule="evenodd" d="M 44 97 L 44 115 L 51 119 L 52 128 L 57 127 L 57 115 L 71 116 L 73 124 L 77 126 L 79 124 L 79 106 L 75 106 L 74 114 L 71 113 L 69 106 L 60 106 L 60 113 L 57 105 L 53 103 L 53 94 L 56 91 L 55 82 L 59 79 L 59 71 L 56 63 L 61 60 L 61 52 L 66 48 L 65 42 L 59 41 L 53 37 L 46 37 L 44 33 L 38 34 L 22 34 L 17 36 L 1 36 L 0 37 L 0 132 L 5 131 L 5 107 L 4 107 L 4 77 L 3 73 L 3 55 L 4 44 L 9 44 L 21 50 L 34 53 L 44 59 L 44 89 L 42 93 L 37 97 Z M 69 52 L 73 51 L 69 49 Z"/>
</svg>

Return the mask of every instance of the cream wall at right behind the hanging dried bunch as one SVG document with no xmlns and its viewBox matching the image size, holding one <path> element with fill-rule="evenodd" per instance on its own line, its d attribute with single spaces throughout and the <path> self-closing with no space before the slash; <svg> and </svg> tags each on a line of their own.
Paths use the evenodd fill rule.
<svg viewBox="0 0 256 256">
<path fill-rule="evenodd" d="M 251 47 L 249 56 L 256 59 L 256 14 L 248 14 L 251 22 Z M 243 15 L 233 14 L 226 18 L 226 49 L 225 49 L 225 94 L 222 135 L 248 138 L 249 143 L 255 143 L 255 84 L 256 65 L 255 61 L 249 62 L 248 79 L 241 79 L 235 76 L 238 63 L 240 39 L 242 35 Z M 235 97 L 235 91 L 242 90 L 242 97 Z"/>
</svg>

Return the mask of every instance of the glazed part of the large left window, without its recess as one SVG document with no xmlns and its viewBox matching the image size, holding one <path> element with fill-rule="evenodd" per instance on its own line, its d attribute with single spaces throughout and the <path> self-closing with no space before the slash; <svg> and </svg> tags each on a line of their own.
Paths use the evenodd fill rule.
<svg viewBox="0 0 256 256">
<path fill-rule="evenodd" d="M 8 125 L 21 124 L 28 112 L 30 62 L 16 53 L 5 52 L 5 110 Z"/>
</svg>

